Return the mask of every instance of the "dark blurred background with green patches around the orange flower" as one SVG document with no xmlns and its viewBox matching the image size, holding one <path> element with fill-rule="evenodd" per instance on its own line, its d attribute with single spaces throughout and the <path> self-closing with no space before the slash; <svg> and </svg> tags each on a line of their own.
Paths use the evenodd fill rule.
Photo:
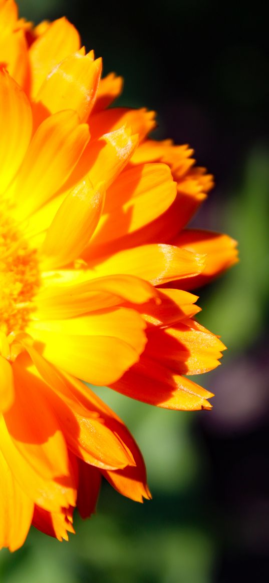
<svg viewBox="0 0 269 583">
<path fill-rule="evenodd" d="M 58 543 L 32 529 L 0 553 L 1 583 L 268 581 L 269 58 L 263 10 L 229 0 L 20 0 L 65 15 L 125 78 L 118 103 L 159 112 L 159 138 L 190 143 L 216 177 L 193 224 L 239 241 L 240 264 L 199 290 L 202 324 L 229 350 L 203 375 L 212 412 L 153 409 L 100 389 L 144 453 L 153 500 L 103 484 L 98 512 Z M 197 380 L 197 377 L 195 378 Z"/>
</svg>

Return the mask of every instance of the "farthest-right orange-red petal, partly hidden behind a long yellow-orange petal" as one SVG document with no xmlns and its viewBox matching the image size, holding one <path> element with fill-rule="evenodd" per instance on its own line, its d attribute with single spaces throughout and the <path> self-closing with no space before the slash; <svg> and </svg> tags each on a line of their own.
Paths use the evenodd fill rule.
<svg viewBox="0 0 269 583">
<path fill-rule="evenodd" d="M 175 244 L 195 253 L 206 254 L 204 271 L 193 280 L 185 280 L 183 289 L 208 283 L 238 261 L 236 241 L 222 233 L 186 229 L 176 238 Z"/>
</svg>

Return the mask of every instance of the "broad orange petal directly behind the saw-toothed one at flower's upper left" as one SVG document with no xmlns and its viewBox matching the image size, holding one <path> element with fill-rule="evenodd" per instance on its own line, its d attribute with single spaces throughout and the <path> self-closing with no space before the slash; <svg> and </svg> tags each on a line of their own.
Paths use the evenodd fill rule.
<svg viewBox="0 0 269 583">
<path fill-rule="evenodd" d="M 79 50 L 80 38 L 75 27 L 65 18 L 54 20 L 29 49 L 32 68 L 32 96 L 56 65 Z"/>
</svg>

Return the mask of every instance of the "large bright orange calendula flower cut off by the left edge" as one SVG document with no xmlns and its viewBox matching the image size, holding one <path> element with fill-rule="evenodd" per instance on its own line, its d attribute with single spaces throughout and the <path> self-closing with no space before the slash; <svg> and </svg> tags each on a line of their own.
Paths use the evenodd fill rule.
<svg viewBox="0 0 269 583">
<path fill-rule="evenodd" d="M 212 187 L 192 150 L 148 139 L 153 113 L 106 109 L 121 79 L 65 19 L 36 29 L 0 0 L 0 545 L 58 539 L 103 475 L 149 498 L 123 422 L 78 379 L 163 408 L 208 409 L 185 375 L 224 346 L 194 321 L 201 285 L 236 261 L 185 230 Z"/>
</svg>

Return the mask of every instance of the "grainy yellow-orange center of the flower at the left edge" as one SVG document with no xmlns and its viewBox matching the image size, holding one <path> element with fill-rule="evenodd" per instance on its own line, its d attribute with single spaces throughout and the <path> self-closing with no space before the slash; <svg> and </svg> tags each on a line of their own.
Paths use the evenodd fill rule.
<svg viewBox="0 0 269 583">
<path fill-rule="evenodd" d="M 29 248 L 16 223 L 1 212 L 0 332 L 8 335 L 25 329 L 38 287 L 36 251 Z"/>
</svg>

